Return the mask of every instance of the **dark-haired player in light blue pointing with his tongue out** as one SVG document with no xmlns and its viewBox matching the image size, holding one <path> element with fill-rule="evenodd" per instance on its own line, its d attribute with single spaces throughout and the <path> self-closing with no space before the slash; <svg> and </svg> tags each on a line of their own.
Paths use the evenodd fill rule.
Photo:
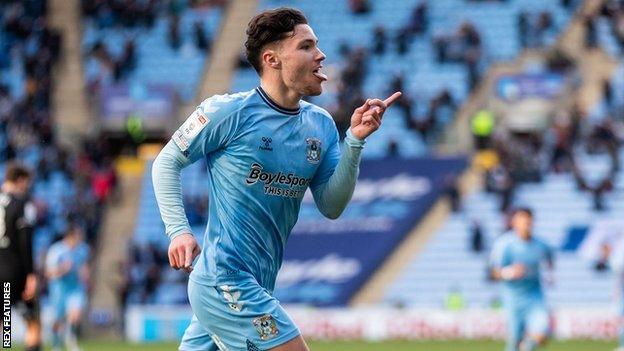
<svg viewBox="0 0 624 351">
<path fill-rule="evenodd" d="M 284 246 L 306 189 L 323 215 L 340 216 L 353 194 L 365 139 L 401 95 L 358 107 L 341 150 L 329 113 L 302 100 L 321 94 L 327 80 L 325 54 L 306 17 L 292 8 L 264 11 L 246 33 L 246 56 L 260 86 L 202 102 L 152 169 L 170 264 L 192 271 L 194 315 L 179 347 L 184 351 L 308 350 L 273 297 Z M 200 158 L 210 183 L 201 250 L 180 184 L 181 169 Z"/>
</svg>

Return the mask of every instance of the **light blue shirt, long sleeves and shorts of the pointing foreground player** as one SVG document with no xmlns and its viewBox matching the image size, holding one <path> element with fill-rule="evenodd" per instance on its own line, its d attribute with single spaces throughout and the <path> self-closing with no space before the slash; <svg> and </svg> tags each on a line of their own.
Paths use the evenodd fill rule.
<svg viewBox="0 0 624 351">
<path fill-rule="evenodd" d="M 308 187 L 325 216 L 344 210 L 364 143 L 348 132 L 341 152 L 329 113 L 304 101 L 282 108 L 261 88 L 205 100 L 174 133 L 152 168 L 171 239 L 190 233 L 181 169 L 205 158 L 210 188 L 180 350 L 269 349 L 299 334 L 272 296 L 286 241 Z"/>
</svg>

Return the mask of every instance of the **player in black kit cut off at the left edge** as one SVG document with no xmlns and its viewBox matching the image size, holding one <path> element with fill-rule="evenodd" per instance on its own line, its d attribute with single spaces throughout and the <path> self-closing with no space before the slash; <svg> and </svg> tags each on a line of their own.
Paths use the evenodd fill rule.
<svg viewBox="0 0 624 351">
<path fill-rule="evenodd" d="M 41 349 L 41 324 L 37 301 L 37 276 L 32 255 L 32 225 L 36 211 L 28 202 L 31 183 L 28 169 L 7 166 L 0 192 L 0 281 L 11 284 L 11 306 L 23 311 L 26 350 Z"/>
</svg>

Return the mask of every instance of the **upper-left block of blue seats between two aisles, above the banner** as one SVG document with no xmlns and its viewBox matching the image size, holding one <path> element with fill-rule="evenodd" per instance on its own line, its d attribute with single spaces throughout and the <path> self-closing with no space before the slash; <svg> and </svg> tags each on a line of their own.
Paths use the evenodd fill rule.
<svg viewBox="0 0 624 351">
<path fill-rule="evenodd" d="M 223 2 L 83 1 L 85 76 L 92 93 L 116 82 L 174 86 L 195 97 Z"/>
</svg>

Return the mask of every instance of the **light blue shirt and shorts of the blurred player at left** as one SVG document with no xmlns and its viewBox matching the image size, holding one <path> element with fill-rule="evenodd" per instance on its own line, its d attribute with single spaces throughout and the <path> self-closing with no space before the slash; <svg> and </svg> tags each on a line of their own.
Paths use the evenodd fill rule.
<svg viewBox="0 0 624 351">
<path fill-rule="evenodd" d="M 49 281 L 50 302 L 55 319 L 63 318 L 69 309 L 84 308 L 86 287 L 80 277 L 80 270 L 89 260 L 89 251 L 85 243 L 72 249 L 62 240 L 50 246 L 46 257 L 47 271 L 71 265 L 69 272 Z"/>
</svg>

